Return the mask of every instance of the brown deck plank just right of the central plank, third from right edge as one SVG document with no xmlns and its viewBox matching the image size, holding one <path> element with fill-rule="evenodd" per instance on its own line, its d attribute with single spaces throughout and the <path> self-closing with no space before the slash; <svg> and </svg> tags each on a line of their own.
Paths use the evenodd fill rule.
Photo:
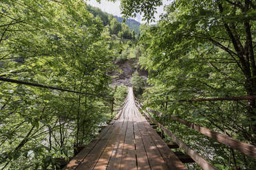
<svg viewBox="0 0 256 170">
<path fill-rule="evenodd" d="M 144 143 L 142 141 L 142 136 L 140 135 L 140 130 L 138 127 L 138 112 L 134 110 L 135 118 L 134 119 L 134 137 L 135 137 L 135 145 L 136 145 L 136 156 L 138 162 L 138 170 L 151 169 L 149 165 L 149 159 L 147 158 L 147 153 L 145 150 Z"/>
</svg>

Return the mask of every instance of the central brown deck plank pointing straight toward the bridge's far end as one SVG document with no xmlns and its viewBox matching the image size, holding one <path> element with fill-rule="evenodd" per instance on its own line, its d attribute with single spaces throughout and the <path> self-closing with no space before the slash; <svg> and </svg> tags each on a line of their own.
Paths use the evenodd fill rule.
<svg viewBox="0 0 256 170">
<path fill-rule="evenodd" d="M 122 149 L 122 161 L 120 164 L 120 169 L 131 169 L 136 170 L 136 155 L 135 155 L 135 145 L 134 145 L 134 123 L 131 117 L 131 109 L 128 113 L 128 123 L 127 130 L 125 133 L 125 145 Z"/>
</svg>

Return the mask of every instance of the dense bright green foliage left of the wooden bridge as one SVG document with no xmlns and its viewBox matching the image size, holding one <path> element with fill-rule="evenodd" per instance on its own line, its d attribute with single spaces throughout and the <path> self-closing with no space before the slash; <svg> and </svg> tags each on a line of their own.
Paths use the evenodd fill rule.
<svg viewBox="0 0 256 170">
<path fill-rule="evenodd" d="M 83 95 L 0 82 L 0 169 L 53 169 L 109 121 L 109 29 L 83 1 L 0 2 L 1 77 Z M 116 93 L 115 93 L 116 91 Z M 120 103 L 120 101 L 118 101 Z"/>
</svg>

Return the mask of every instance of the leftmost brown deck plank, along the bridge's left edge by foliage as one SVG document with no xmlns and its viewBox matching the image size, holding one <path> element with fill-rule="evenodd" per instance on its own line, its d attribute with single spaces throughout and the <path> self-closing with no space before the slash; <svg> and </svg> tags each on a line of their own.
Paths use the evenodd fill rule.
<svg viewBox="0 0 256 170">
<path fill-rule="evenodd" d="M 100 134 L 98 134 L 98 136 L 96 136 L 96 138 L 94 138 L 94 140 L 91 143 L 89 143 L 87 147 L 81 150 L 76 156 L 74 156 L 72 160 L 70 160 L 69 164 L 67 164 L 63 168 L 63 170 L 76 169 L 76 167 L 78 167 L 78 165 L 81 164 L 83 159 L 89 154 L 90 151 L 92 151 L 95 145 L 100 141 L 100 138 L 103 138 L 103 136 L 107 134 L 110 127 L 111 125 L 107 125 L 107 127 L 105 127 L 105 129 L 102 132 L 100 132 Z"/>
</svg>

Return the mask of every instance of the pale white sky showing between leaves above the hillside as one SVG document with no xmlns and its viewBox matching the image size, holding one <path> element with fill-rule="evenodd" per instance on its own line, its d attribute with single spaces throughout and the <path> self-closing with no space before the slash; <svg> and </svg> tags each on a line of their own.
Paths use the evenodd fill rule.
<svg viewBox="0 0 256 170">
<path fill-rule="evenodd" d="M 113 3 L 106 0 L 101 0 L 101 3 L 98 3 L 96 0 L 87 0 L 86 2 L 89 3 L 89 5 L 98 7 L 100 8 L 100 10 L 103 10 L 104 12 L 107 12 L 109 14 L 122 16 L 120 11 L 120 1 L 116 1 L 115 3 Z M 163 0 L 164 5 L 168 5 L 170 3 L 171 1 L 169 0 Z M 156 17 L 156 21 L 159 20 L 160 14 L 164 13 L 164 5 L 157 8 L 157 13 L 154 15 Z M 141 19 L 142 19 L 142 16 L 140 16 L 140 14 L 137 14 L 135 20 L 140 23 L 144 23 L 144 21 L 141 21 Z"/>
</svg>

